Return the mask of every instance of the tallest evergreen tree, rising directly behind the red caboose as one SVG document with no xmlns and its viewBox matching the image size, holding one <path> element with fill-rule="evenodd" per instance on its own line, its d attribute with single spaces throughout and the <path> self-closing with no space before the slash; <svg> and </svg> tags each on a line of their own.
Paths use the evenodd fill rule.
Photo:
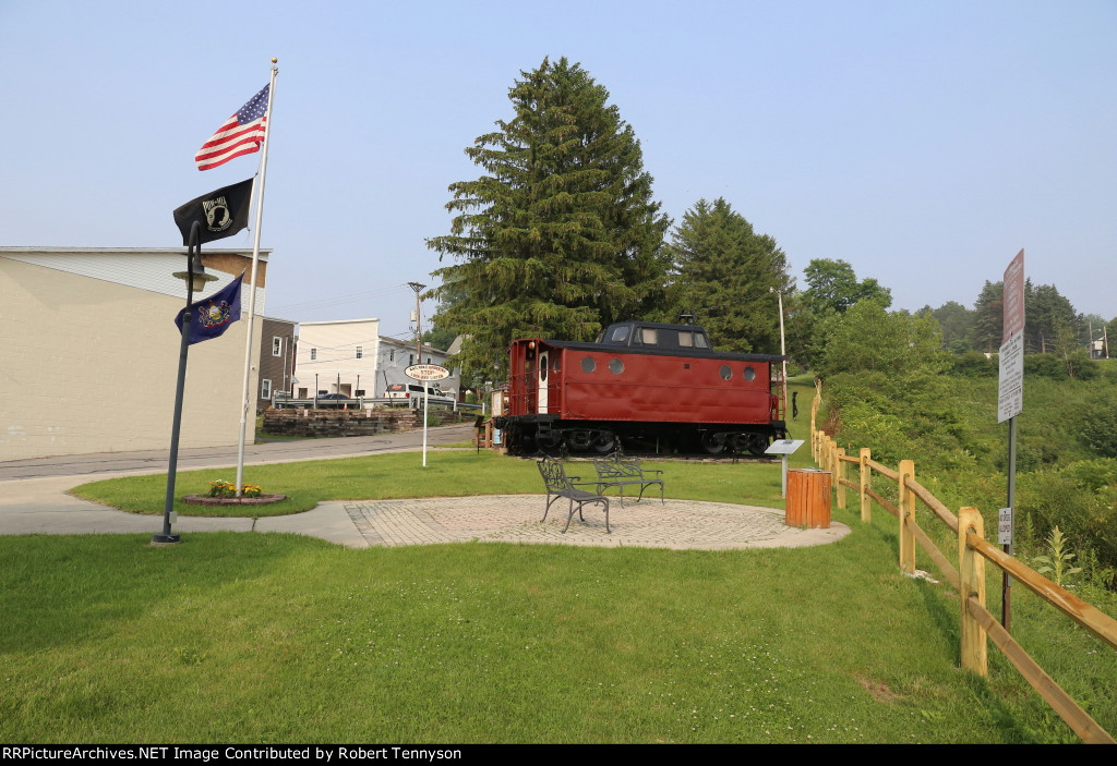
<svg viewBox="0 0 1117 766">
<path fill-rule="evenodd" d="M 458 261 L 435 272 L 456 291 L 436 322 L 466 336 L 460 362 L 489 376 L 516 337 L 592 340 L 642 316 L 667 272 L 670 221 L 608 90 L 565 58 L 521 75 L 513 118 L 466 149 L 485 174 L 450 185 L 451 233 L 427 241 Z"/>
</svg>

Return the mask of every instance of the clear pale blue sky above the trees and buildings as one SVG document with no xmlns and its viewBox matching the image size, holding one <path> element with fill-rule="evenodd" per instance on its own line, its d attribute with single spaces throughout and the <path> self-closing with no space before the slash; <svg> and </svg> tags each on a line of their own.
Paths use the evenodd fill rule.
<svg viewBox="0 0 1117 766">
<path fill-rule="evenodd" d="M 192 158 L 273 56 L 269 316 L 405 334 L 464 149 L 544 56 L 608 88 L 668 215 L 725 197 L 801 287 L 843 259 L 896 308 L 973 306 L 1023 248 L 1117 314 L 1113 0 L 0 0 L 0 244 L 180 244 L 174 207 L 257 169 Z"/>
</svg>

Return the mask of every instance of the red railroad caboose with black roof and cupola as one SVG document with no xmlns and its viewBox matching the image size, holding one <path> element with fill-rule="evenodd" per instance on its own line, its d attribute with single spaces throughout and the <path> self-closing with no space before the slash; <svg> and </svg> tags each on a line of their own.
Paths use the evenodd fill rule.
<svg viewBox="0 0 1117 766">
<path fill-rule="evenodd" d="M 726 449 L 762 454 L 785 436 L 784 357 L 715 351 L 691 324 L 624 322 L 594 343 L 527 338 L 509 351 L 509 450 Z"/>
</svg>

